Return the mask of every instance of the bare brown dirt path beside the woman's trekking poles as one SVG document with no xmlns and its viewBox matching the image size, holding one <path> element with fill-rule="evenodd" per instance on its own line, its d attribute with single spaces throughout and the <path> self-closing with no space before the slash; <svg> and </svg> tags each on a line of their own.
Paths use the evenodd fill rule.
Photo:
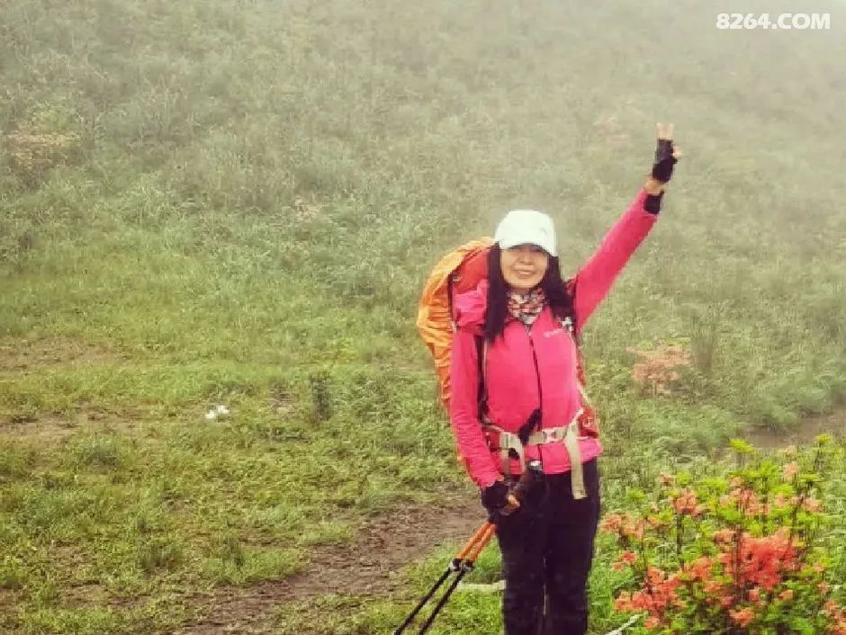
<svg viewBox="0 0 846 635">
<path fill-rule="evenodd" d="M 389 516 L 365 522 L 354 544 L 315 551 L 309 570 L 298 576 L 186 598 L 204 605 L 204 617 L 175 633 L 265 635 L 273 630 L 277 604 L 348 593 L 354 580 L 356 595 L 388 595 L 402 583 L 399 568 L 438 544 L 465 541 L 483 522 L 476 496 L 456 498 L 446 507 L 402 506 Z"/>
</svg>

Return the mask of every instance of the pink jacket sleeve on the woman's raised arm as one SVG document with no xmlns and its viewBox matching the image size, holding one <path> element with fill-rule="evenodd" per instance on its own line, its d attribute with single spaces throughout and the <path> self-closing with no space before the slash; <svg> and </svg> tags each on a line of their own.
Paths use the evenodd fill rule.
<svg viewBox="0 0 846 635">
<path fill-rule="evenodd" d="M 641 189 L 599 249 L 576 274 L 572 287 L 573 305 L 580 329 L 608 295 L 617 274 L 653 228 L 657 216 L 644 209 L 646 197 L 646 191 Z"/>
</svg>

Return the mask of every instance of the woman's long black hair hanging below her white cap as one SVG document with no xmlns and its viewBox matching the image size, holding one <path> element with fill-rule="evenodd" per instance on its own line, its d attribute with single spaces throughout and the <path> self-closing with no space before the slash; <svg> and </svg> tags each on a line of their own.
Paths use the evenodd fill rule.
<svg viewBox="0 0 846 635">
<path fill-rule="evenodd" d="M 491 247 L 488 254 L 488 304 L 485 309 L 485 339 L 489 343 L 505 330 L 505 319 L 508 317 L 509 285 L 505 282 L 500 266 L 500 255 L 502 250 L 499 245 Z M 567 282 L 561 277 L 561 264 L 557 256 L 549 256 L 549 264 L 546 273 L 539 285 L 546 295 L 546 302 L 553 310 L 553 315 L 558 319 L 572 321 L 572 327 L 576 328 L 576 316 L 573 310 L 572 294 L 568 289 Z"/>
</svg>

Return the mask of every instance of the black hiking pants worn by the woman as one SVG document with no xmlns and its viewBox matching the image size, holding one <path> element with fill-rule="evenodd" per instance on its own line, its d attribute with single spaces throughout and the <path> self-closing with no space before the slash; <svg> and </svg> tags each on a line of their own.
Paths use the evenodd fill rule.
<svg viewBox="0 0 846 635">
<path fill-rule="evenodd" d="M 496 514 L 506 635 L 584 635 L 587 582 L 599 523 L 599 470 L 584 463 L 588 497 L 573 500 L 570 474 L 546 476 L 524 504 Z"/>
</svg>

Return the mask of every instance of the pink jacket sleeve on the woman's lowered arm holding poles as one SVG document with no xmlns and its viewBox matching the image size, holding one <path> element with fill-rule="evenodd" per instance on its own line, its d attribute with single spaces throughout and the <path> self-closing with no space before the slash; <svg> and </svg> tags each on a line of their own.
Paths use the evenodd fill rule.
<svg viewBox="0 0 846 635">
<path fill-rule="evenodd" d="M 453 336 L 450 357 L 449 419 L 458 452 L 470 478 L 488 487 L 500 476 L 479 421 L 479 361 L 473 333 L 459 329 Z"/>
</svg>

